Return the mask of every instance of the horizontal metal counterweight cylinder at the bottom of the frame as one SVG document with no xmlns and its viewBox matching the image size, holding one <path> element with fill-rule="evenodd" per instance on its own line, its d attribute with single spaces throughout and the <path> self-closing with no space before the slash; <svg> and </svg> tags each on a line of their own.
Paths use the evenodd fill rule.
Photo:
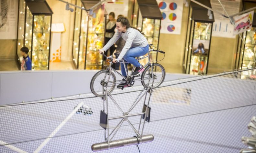
<svg viewBox="0 0 256 153">
<path fill-rule="evenodd" d="M 110 145 L 109 147 L 108 147 L 108 142 L 96 143 L 91 146 L 91 149 L 92 151 L 101 151 L 101 150 L 137 145 L 138 140 L 139 140 L 139 144 L 151 142 L 154 140 L 154 136 L 152 134 L 149 134 L 149 135 L 142 136 L 141 139 L 132 137 L 132 138 L 114 140 L 109 142 L 109 145 Z"/>
</svg>

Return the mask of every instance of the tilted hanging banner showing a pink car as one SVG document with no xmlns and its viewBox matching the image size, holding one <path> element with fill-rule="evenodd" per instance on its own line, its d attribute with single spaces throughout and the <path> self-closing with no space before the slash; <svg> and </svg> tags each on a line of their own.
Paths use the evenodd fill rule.
<svg viewBox="0 0 256 153">
<path fill-rule="evenodd" d="M 248 29 L 251 29 L 253 13 L 254 11 L 251 11 L 242 15 L 234 16 L 235 28 L 233 35 L 238 35 Z"/>
</svg>

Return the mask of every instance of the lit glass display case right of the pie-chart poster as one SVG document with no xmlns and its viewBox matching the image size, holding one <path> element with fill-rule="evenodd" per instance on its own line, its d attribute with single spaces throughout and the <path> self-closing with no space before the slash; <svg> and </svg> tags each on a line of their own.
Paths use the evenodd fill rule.
<svg viewBox="0 0 256 153">
<path fill-rule="evenodd" d="M 211 8 L 210 1 L 199 1 Z M 207 9 L 191 3 L 189 9 L 188 32 L 183 58 L 183 71 L 187 74 L 207 74 L 212 26 L 214 15 L 207 15 Z M 210 19 L 209 19 L 210 18 Z"/>
</svg>

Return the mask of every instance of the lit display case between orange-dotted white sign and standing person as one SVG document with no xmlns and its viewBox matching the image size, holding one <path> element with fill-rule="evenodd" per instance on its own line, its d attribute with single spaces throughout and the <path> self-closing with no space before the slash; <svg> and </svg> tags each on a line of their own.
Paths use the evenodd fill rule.
<svg viewBox="0 0 256 153">
<path fill-rule="evenodd" d="M 79 1 L 86 9 L 96 5 L 99 1 Z M 79 10 L 76 10 L 79 11 Z M 104 5 L 94 10 L 96 17 L 87 15 L 87 12 L 80 10 L 76 12 L 73 61 L 77 69 L 102 69 L 102 55 L 98 50 L 104 45 L 105 21 Z"/>
</svg>

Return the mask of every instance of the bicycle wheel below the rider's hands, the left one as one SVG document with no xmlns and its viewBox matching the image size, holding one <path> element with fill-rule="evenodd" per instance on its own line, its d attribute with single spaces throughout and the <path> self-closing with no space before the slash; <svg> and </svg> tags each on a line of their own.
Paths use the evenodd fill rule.
<svg viewBox="0 0 256 153">
<path fill-rule="evenodd" d="M 108 81 L 109 79 L 109 81 Z M 106 88 L 110 94 L 116 86 L 116 76 L 109 70 L 100 70 L 91 80 L 90 88 L 92 93 L 97 97 L 106 95 Z"/>
</svg>

